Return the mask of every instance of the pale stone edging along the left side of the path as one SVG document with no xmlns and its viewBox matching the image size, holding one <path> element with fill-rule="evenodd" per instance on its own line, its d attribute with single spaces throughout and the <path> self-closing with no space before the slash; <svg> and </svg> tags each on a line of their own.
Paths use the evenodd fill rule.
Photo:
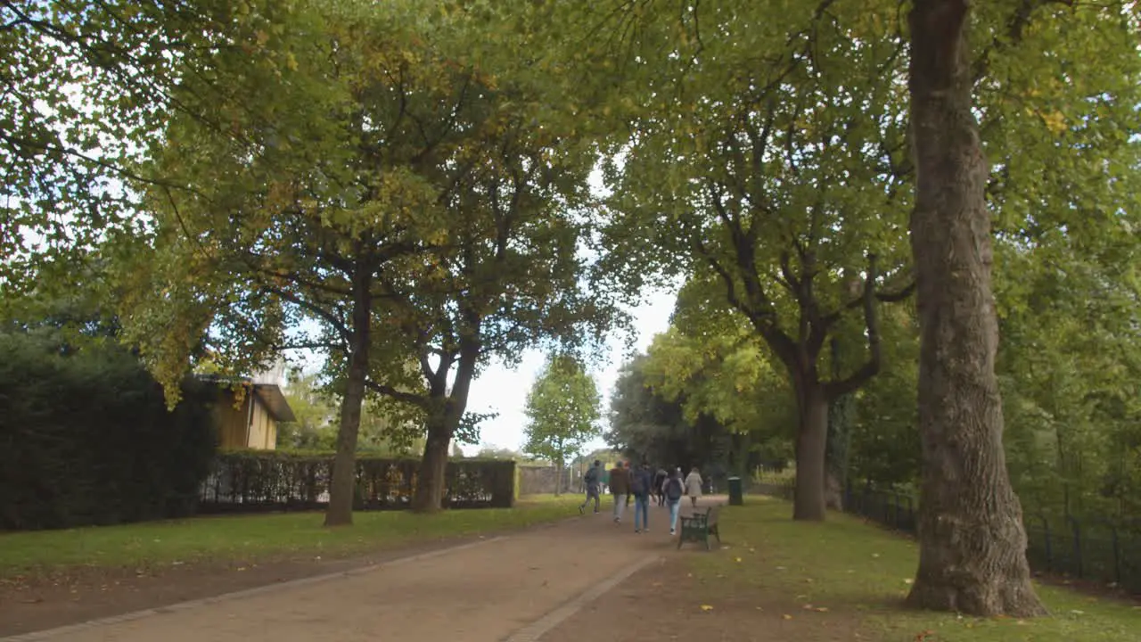
<svg viewBox="0 0 1141 642">
<path fill-rule="evenodd" d="M 242 600 L 245 597 L 253 597 L 256 595 L 266 595 L 269 593 L 275 593 L 278 591 L 289 591 L 291 588 L 298 588 L 301 586 L 308 586 L 311 584 L 319 584 L 322 581 L 329 581 L 332 579 L 355 577 L 358 575 L 364 575 L 381 569 L 387 569 L 390 567 L 397 567 L 400 564 L 407 564 L 412 562 L 419 562 L 422 560 L 430 560 L 432 557 L 439 557 L 442 555 L 447 555 L 450 553 L 455 553 L 459 551 L 466 551 L 468 548 L 475 548 L 477 546 L 483 546 L 484 544 L 491 544 L 493 541 L 502 541 L 509 539 L 511 536 L 501 535 L 496 537 L 489 537 L 487 539 L 480 539 L 478 541 L 468 541 L 466 544 L 459 544 L 456 546 L 447 546 L 445 548 L 437 548 L 435 551 L 428 551 L 426 553 L 418 553 L 415 555 L 407 555 L 404 557 L 397 557 L 395 560 L 388 560 L 386 562 L 380 562 L 377 564 L 369 564 L 365 567 L 358 567 L 355 569 L 349 569 L 346 571 L 337 571 L 324 575 L 316 575 L 310 577 L 302 577 L 298 579 L 291 579 L 289 581 L 280 581 L 275 584 L 267 584 L 265 586 L 254 586 L 252 588 L 243 588 L 242 591 L 232 591 L 229 593 L 222 593 L 221 595 L 211 595 L 209 597 L 200 597 L 197 600 L 187 600 L 185 602 L 176 602 L 173 604 L 168 604 L 165 607 L 155 607 L 152 609 L 143 609 L 139 611 L 131 611 L 129 613 L 123 613 L 119 616 L 111 616 L 106 618 L 91 619 L 87 621 L 81 621 L 76 624 L 70 624 L 66 626 L 57 626 L 55 628 L 44 628 L 41 631 L 33 631 L 30 633 L 21 633 L 17 635 L 10 635 L 8 637 L 0 637 L 0 642 L 43 642 L 46 640 L 51 640 L 58 635 L 64 635 L 67 633 L 78 633 L 89 628 L 95 628 L 99 626 L 107 626 L 114 624 L 122 624 L 127 621 L 133 621 L 138 619 L 144 619 L 154 616 L 161 616 L 165 613 L 172 613 L 177 611 L 186 611 L 189 609 L 196 609 L 199 607 L 205 607 L 208 604 L 216 604 L 226 600 Z"/>
</svg>

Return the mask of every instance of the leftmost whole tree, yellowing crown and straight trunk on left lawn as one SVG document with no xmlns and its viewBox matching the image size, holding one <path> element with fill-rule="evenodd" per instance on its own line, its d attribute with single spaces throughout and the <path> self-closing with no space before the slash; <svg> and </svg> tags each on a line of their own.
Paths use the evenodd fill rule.
<svg viewBox="0 0 1141 642">
<path fill-rule="evenodd" d="M 149 192 L 157 258 L 130 275 L 133 337 L 168 378 L 203 334 L 226 344 L 216 352 L 234 370 L 272 350 L 337 356 L 326 372 L 341 400 L 330 525 L 351 522 L 366 391 L 430 387 L 404 377 L 415 353 L 378 348 L 387 323 L 407 321 L 386 307 L 390 286 L 432 287 L 426 254 L 446 241 L 444 204 L 458 198 L 438 179 L 444 168 L 463 178 L 464 143 L 487 135 L 491 81 L 439 48 L 463 30 L 427 37 L 452 23 L 421 19 L 419 3 L 389 9 L 283 9 L 265 16 L 257 63 L 219 53 L 211 82 L 243 99 L 213 109 L 234 134 L 171 119 L 152 171 L 189 187 Z M 317 336 L 288 336 L 300 319 L 316 321 Z"/>
</svg>

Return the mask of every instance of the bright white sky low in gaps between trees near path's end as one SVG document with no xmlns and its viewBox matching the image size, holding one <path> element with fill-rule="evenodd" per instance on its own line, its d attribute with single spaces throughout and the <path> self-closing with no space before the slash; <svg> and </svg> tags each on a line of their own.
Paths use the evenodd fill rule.
<svg viewBox="0 0 1141 642">
<path fill-rule="evenodd" d="M 645 351 L 654 335 L 663 332 L 670 324 L 673 312 L 675 291 L 649 290 L 644 292 L 642 302 L 629 308 L 633 316 L 634 348 Z M 594 377 L 598 392 L 602 395 L 602 430 L 607 430 L 606 417 L 610 407 L 610 392 L 618 377 L 618 368 L 628 360 L 625 342 L 621 336 L 612 336 L 606 342 L 605 368 L 590 372 Z M 545 354 L 537 350 L 527 351 L 515 369 L 507 369 L 495 363 L 480 374 L 471 385 L 468 410 L 475 412 L 499 412 L 493 419 L 479 425 L 480 443 L 476 446 L 461 444 L 464 455 L 475 455 L 480 448 L 510 448 L 519 450 L 523 447 L 523 428 L 526 423 L 523 410 L 527 401 L 527 392 L 543 367 Z M 586 444 L 583 452 L 605 448 L 601 439 Z"/>
</svg>

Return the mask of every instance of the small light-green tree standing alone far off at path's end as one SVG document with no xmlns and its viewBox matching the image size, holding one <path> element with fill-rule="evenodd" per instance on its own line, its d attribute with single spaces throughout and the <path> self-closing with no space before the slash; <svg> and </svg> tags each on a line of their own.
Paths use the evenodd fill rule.
<svg viewBox="0 0 1141 642">
<path fill-rule="evenodd" d="M 527 394 L 524 452 L 553 462 L 563 479 L 567 462 L 599 434 L 599 401 L 593 377 L 577 360 L 550 355 Z M 560 490 L 556 488 L 555 493 Z"/>
</svg>

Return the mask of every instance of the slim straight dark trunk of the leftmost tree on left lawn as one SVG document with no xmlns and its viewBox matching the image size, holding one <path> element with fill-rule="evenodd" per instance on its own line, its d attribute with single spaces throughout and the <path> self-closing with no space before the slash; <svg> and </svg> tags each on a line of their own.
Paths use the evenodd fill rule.
<svg viewBox="0 0 1141 642">
<path fill-rule="evenodd" d="M 349 346 L 349 368 L 341 398 L 341 424 L 337 431 L 337 456 L 333 459 L 333 479 L 329 485 L 329 507 L 325 525 L 353 523 L 353 498 L 356 490 L 356 444 L 361 432 L 361 406 L 364 403 L 365 380 L 369 377 L 369 347 L 372 336 L 372 275 L 358 266 L 353 278 L 353 340 Z"/>
</svg>

